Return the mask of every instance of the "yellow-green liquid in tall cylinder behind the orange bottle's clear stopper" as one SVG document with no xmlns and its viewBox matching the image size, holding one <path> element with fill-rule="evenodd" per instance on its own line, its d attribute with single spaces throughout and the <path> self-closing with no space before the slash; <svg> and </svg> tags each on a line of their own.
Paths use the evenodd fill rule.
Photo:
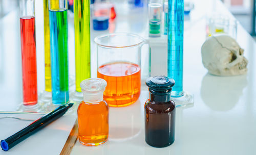
<svg viewBox="0 0 256 155">
<path fill-rule="evenodd" d="M 74 0 L 76 91 L 91 77 L 90 2 Z"/>
</svg>

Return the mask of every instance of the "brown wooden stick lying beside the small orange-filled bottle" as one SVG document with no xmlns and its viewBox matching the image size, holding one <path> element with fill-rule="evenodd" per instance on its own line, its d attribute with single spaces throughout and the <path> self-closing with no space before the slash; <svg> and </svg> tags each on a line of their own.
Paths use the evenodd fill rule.
<svg viewBox="0 0 256 155">
<path fill-rule="evenodd" d="M 69 155 L 70 154 L 73 146 L 76 143 L 77 137 L 78 137 L 78 125 L 77 125 L 77 119 L 76 119 L 75 124 L 69 134 L 69 137 L 60 152 L 60 155 Z"/>
</svg>

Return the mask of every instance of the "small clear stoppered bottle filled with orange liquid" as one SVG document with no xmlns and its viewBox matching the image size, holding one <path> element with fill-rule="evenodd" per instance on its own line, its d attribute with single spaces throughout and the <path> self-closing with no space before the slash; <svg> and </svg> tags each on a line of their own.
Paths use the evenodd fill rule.
<svg viewBox="0 0 256 155">
<path fill-rule="evenodd" d="M 103 100 L 106 81 L 87 79 L 80 87 L 83 101 L 77 109 L 79 141 L 88 146 L 103 144 L 109 137 L 109 105 Z"/>
</svg>

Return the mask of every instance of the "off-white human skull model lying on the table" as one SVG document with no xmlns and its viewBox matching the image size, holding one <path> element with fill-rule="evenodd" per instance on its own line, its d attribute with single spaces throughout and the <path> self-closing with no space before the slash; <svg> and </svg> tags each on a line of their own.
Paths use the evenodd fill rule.
<svg viewBox="0 0 256 155">
<path fill-rule="evenodd" d="M 212 36 L 201 48 L 202 61 L 209 73 L 230 76 L 247 72 L 247 59 L 236 40 L 228 35 Z"/>
</svg>

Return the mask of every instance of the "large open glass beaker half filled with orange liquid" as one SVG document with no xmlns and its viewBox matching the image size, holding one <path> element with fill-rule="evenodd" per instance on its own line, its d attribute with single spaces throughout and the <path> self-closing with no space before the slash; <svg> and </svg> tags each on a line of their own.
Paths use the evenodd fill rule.
<svg viewBox="0 0 256 155">
<path fill-rule="evenodd" d="M 104 99 L 111 107 L 133 104 L 140 96 L 141 47 L 143 38 L 129 33 L 112 33 L 98 36 L 97 76 L 108 85 Z"/>
</svg>

